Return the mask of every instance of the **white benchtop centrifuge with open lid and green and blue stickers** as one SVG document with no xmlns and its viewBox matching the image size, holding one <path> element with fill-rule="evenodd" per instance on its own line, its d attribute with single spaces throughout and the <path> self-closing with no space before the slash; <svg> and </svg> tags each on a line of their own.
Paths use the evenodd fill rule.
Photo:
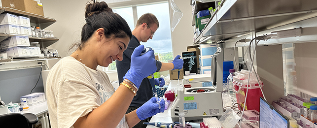
<svg viewBox="0 0 317 128">
<path fill-rule="evenodd" d="M 212 56 L 211 74 L 201 74 L 186 78 L 183 83 L 190 83 L 192 88 L 178 86 L 177 97 L 171 107 L 171 117 L 173 121 L 178 120 L 180 112 L 185 113 L 185 120 L 202 120 L 206 117 L 221 117 L 223 113 L 222 104 L 222 76 L 223 72 L 223 44 L 217 44 L 217 52 Z M 206 75 L 206 77 L 205 77 Z M 209 78 L 208 78 L 209 77 Z M 203 82 L 210 82 L 214 87 L 203 87 Z M 211 85 L 212 86 L 212 85 Z"/>
</svg>

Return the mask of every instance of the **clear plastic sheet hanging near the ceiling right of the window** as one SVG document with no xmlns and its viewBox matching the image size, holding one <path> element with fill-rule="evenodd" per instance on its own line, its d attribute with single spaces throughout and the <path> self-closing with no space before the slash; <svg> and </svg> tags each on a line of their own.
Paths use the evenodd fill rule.
<svg viewBox="0 0 317 128">
<path fill-rule="evenodd" d="M 181 17 L 183 17 L 183 13 L 180 11 L 180 9 L 177 7 L 174 0 L 170 0 L 171 8 L 173 9 L 173 19 L 172 19 L 172 26 L 171 30 L 174 32 L 175 27 L 179 23 Z"/>
</svg>

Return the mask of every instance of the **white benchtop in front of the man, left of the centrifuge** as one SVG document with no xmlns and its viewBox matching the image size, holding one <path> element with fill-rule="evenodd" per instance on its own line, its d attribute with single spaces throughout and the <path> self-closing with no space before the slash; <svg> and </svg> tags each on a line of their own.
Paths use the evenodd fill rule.
<svg viewBox="0 0 317 128">
<path fill-rule="evenodd" d="M 175 88 L 174 90 L 176 90 L 177 83 L 178 83 L 178 80 L 172 80 L 170 85 L 169 85 L 169 87 L 167 88 L 167 91 L 169 91 L 169 90 L 171 90 L 173 88 Z M 179 83 L 182 83 L 182 80 L 179 80 Z M 171 102 L 170 106 L 163 113 L 158 113 L 158 114 L 154 115 L 152 117 L 152 119 L 150 120 L 150 123 L 152 123 L 152 122 L 173 123 L 172 116 L 171 116 L 172 103 L 173 102 Z M 151 126 L 151 125 L 147 125 L 146 128 L 157 128 L 157 127 Z"/>
</svg>

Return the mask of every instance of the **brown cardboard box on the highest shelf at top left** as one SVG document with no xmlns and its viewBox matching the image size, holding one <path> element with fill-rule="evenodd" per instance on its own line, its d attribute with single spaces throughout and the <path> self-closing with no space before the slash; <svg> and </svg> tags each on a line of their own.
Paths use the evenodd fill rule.
<svg viewBox="0 0 317 128">
<path fill-rule="evenodd" d="M 35 0 L 1 0 L 1 2 L 3 7 L 10 7 L 44 16 L 43 4 Z"/>
</svg>

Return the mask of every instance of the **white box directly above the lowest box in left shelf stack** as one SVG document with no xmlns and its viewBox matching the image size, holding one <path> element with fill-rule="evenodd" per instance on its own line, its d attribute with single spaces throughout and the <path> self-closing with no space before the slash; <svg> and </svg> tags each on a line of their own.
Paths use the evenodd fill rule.
<svg viewBox="0 0 317 128">
<path fill-rule="evenodd" d="M 12 36 L 4 39 L 0 42 L 1 49 L 12 48 L 16 46 L 30 46 L 30 40 L 28 36 Z"/>
</svg>

